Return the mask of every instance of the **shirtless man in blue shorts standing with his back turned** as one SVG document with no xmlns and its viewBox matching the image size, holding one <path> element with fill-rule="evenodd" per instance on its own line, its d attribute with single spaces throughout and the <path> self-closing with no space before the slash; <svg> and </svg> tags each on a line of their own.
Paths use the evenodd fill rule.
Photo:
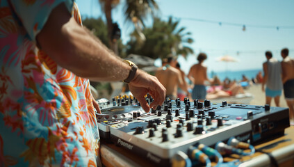
<svg viewBox="0 0 294 167">
<path fill-rule="evenodd" d="M 204 81 L 209 81 L 209 79 L 207 78 L 207 67 L 202 64 L 206 58 L 206 54 L 200 53 L 197 56 L 198 63 L 190 68 L 188 74 L 188 79 L 193 81 L 195 85 L 192 92 L 194 100 L 204 101 L 206 98 Z"/>
</svg>

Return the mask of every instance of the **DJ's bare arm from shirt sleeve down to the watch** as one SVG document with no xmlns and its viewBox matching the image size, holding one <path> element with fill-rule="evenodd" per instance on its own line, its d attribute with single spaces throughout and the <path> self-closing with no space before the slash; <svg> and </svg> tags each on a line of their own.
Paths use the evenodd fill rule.
<svg viewBox="0 0 294 167">
<path fill-rule="evenodd" d="M 52 10 L 37 41 L 58 65 L 93 81 L 122 81 L 131 67 L 77 24 L 62 3 Z"/>
</svg>

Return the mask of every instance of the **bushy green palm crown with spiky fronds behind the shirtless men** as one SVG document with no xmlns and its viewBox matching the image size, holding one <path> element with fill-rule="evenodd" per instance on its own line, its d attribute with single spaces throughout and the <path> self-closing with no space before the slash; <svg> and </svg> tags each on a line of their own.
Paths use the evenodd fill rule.
<svg viewBox="0 0 294 167">
<path fill-rule="evenodd" d="M 168 54 L 193 54 L 193 49 L 188 45 L 193 42 L 190 32 L 186 28 L 177 28 L 179 21 L 172 17 L 168 22 L 160 18 L 154 18 L 152 27 L 142 30 L 145 35 L 145 42 L 138 40 L 138 33 L 131 33 L 131 40 L 127 44 L 127 54 L 140 54 L 151 58 L 165 58 Z"/>
</svg>

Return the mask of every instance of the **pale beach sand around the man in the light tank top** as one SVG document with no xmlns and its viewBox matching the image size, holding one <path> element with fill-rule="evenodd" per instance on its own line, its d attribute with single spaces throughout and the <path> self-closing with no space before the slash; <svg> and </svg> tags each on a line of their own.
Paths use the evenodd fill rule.
<svg viewBox="0 0 294 167">
<path fill-rule="evenodd" d="M 249 88 L 245 89 L 245 93 L 251 93 L 252 95 L 254 95 L 254 99 L 250 102 L 250 104 L 252 105 L 266 104 L 266 93 L 261 90 L 261 84 L 253 84 Z M 272 99 L 270 106 L 276 106 L 274 99 Z M 288 108 L 286 104 L 286 100 L 284 98 L 284 92 L 281 93 L 280 106 Z"/>
</svg>

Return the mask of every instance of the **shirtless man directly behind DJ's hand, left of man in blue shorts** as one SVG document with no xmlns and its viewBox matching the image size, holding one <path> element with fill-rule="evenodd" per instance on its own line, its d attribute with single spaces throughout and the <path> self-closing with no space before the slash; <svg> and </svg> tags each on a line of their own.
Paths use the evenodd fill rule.
<svg viewBox="0 0 294 167">
<path fill-rule="evenodd" d="M 176 65 L 177 59 L 174 56 L 169 56 L 168 63 L 160 67 L 155 74 L 158 81 L 160 81 L 166 89 L 166 97 L 170 97 L 171 100 L 177 99 L 178 86 L 188 93 L 188 88 L 183 84 L 181 72 L 175 68 Z"/>
</svg>

